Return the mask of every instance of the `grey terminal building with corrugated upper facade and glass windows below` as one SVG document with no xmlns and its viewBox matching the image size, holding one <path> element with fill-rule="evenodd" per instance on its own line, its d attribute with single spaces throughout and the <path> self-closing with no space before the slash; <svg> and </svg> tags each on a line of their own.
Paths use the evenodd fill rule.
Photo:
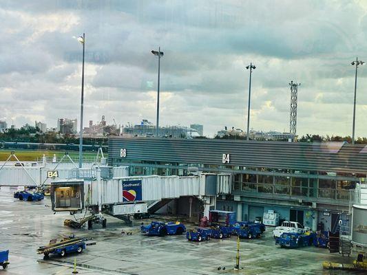
<svg viewBox="0 0 367 275">
<path fill-rule="evenodd" d="M 216 209 L 239 220 L 274 210 L 314 230 L 318 223 L 333 230 L 367 175 L 367 146 L 345 142 L 110 137 L 108 151 L 109 165 L 129 166 L 129 175 L 231 173 L 231 194 L 220 195 Z"/>
</svg>

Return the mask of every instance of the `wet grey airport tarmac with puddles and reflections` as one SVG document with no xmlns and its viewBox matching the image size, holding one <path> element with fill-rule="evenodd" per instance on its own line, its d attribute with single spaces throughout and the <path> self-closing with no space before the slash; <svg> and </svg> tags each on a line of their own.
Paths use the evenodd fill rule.
<svg viewBox="0 0 367 275">
<path fill-rule="evenodd" d="M 19 201 L 10 193 L 0 192 L 0 250 L 10 250 L 10 265 L 6 270 L 0 268 L 0 275 L 72 274 L 74 259 L 78 274 L 362 274 L 323 270 L 323 261 L 350 263 L 355 257 L 330 254 L 313 246 L 279 248 L 269 230 L 260 239 L 240 240 L 241 270 L 235 271 L 235 236 L 201 243 L 187 241 L 185 234 L 145 236 L 139 232 L 141 221 L 127 226 L 119 219 L 106 217 L 107 228 L 94 225 L 92 230 L 75 230 L 63 225 L 64 219 L 73 216 L 54 214 L 49 197 L 36 202 Z M 122 230 L 132 234 L 121 234 Z M 50 239 L 70 234 L 91 237 L 96 245 L 62 258 L 50 256 L 44 260 L 43 255 L 36 254 L 36 249 Z"/>
</svg>

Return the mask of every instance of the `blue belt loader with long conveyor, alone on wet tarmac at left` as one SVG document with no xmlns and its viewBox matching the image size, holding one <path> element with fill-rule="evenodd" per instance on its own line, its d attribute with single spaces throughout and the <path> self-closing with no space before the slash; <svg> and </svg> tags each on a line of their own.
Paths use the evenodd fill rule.
<svg viewBox="0 0 367 275">
<path fill-rule="evenodd" d="M 50 254 L 58 254 L 59 256 L 65 256 L 68 253 L 78 252 L 81 253 L 86 248 L 84 238 L 75 238 L 69 236 L 61 241 L 51 240 L 49 245 L 41 246 L 38 250 L 38 254 L 44 254 L 47 259 Z"/>
</svg>

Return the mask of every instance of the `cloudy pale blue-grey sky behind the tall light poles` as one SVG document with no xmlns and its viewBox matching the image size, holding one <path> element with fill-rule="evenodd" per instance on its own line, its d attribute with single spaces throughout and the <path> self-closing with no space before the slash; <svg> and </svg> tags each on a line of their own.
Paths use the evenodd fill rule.
<svg viewBox="0 0 367 275">
<path fill-rule="evenodd" d="M 289 131 L 291 80 L 297 134 L 351 135 L 355 67 L 367 61 L 367 1 L 0 0 L 0 119 L 19 127 L 80 119 L 84 126 L 160 125 Z M 356 136 L 367 137 L 367 66 L 358 68 Z"/>
</svg>

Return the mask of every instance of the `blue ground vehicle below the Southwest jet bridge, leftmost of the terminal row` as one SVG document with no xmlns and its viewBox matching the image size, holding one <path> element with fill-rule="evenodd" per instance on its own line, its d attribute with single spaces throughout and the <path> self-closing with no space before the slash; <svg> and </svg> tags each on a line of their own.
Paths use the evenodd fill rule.
<svg viewBox="0 0 367 275">
<path fill-rule="evenodd" d="M 141 225 L 140 232 L 148 236 L 166 236 L 182 234 L 186 232 L 185 225 L 180 222 L 163 223 L 162 221 L 152 221 L 148 225 Z"/>
</svg>

